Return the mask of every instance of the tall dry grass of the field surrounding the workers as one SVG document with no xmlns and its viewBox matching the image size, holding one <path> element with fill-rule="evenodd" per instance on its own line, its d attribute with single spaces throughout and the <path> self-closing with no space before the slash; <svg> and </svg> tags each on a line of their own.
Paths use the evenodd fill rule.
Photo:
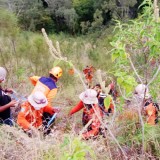
<svg viewBox="0 0 160 160">
<path fill-rule="evenodd" d="M 2 22 L 10 13 L 3 13 Z M 11 19 L 11 20 L 10 20 Z M 8 70 L 7 85 L 22 95 L 29 95 L 33 86 L 28 77 L 31 75 L 47 76 L 53 65 L 63 69 L 63 76 L 58 81 L 58 94 L 54 106 L 62 108 L 58 115 L 53 134 L 45 139 L 42 137 L 29 138 L 17 127 L 0 127 L 0 159 L 25 160 L 123 160 L 124 157 L 106 131 L 106 138 L 101 135 L 96 139 L 83 141 L 78 139 L 77 133 L 82 129 L 81 112 L 76 113 L 72 119 L 67 114 L 83 91 L 83 86 L 76 75 L 69 75 L 70 66 L 58 62 L 49 54 L 48 47 L 41 33 L 21 31 L 16 25 L 13 15 L 8 18 L 10 25 L 1 26 L 0 33 L 0 66 Z M 5 24 L 5 23 L 4 23 Z M 12 24 L 13 30 L 10 27 Z M 7 29 L 8 27 L 8 29 Z M 15 31 L 15 32 L 14 32 Z M 73 37 L 61 33 L 49 35 L 55 43 L 59 41 L 63 56 L 68 57 L 77 69 L 82 72 L 86 65 L 93 65 L 104 72 L 112 70 L 109 42 L 112 39 L 112 29 L 103 31 L 103 34 Z M 108 54 L 107 54 L 108 53 Z M 96 80 L 95 80 L 96 82 Z M 117 105 L 120 106 L 120 105 Z M 117 118 L 110 130 L 119 140 L 129 159 L 158 159 L 159 155 L 159 125 L 157 127 L 145 126 L 145 157 L 141 157 L 141 130 L 137 113 L 125 108 L 117 111 Z M 120 115 L 118 117 L 118 115 Z M 108 117 L 104 117 L 109 122 Z"/>
</svg>

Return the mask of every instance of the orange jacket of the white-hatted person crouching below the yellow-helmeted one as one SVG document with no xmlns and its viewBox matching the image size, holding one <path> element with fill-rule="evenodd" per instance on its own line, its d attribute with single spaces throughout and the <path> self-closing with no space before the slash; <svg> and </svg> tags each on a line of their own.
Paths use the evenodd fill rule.
<svg viewBox="0 0 160 160">
<path fill-rule="evenodd" d="M 30 125 L 38 128 L 42 125 L 42 116 L 44 112 L 48 112 L 53 115 L 54 109 L 50 106 L 35 110 L 33 106 L 27 101 L 21 106 L 21 111 L 18 114 L 17 123 L 24 129 L 29 130 Z"/>
</svg>

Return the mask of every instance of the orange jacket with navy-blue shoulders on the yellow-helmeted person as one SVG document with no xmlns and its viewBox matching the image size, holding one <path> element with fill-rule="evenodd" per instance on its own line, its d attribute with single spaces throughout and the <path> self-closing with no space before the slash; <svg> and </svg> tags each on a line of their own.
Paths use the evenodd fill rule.
<svg viewBox="0 0 160 160">
<path fill-rule="evenodd" d="M 32 84 L 35 86 L 33 89 L 35 91 L 41 91 L 47 97 L 48 105 L 51 106 L 51 102 L 55 95 L 57 94 L 56 83 L 50 77 L 30 77 Z"/>
</svg>

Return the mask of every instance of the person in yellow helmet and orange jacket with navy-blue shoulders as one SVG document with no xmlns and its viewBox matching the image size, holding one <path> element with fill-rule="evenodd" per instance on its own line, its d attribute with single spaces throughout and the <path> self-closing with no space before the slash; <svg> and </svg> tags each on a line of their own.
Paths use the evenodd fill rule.
<svg viewBox="0 0 160 160">
<path fill-rule="evenodd" d="M 32 84 L 35 86 L 32 93 L 35 91 L 41 91 L 47 97 L 48 105 L 51 106 L 53 98 L 57 94 L 56 82 L 62 76 L 62 69 L 60 67 L 54 67 L 49 71 L 49 77 L 30 77 Z"/>
</svg>

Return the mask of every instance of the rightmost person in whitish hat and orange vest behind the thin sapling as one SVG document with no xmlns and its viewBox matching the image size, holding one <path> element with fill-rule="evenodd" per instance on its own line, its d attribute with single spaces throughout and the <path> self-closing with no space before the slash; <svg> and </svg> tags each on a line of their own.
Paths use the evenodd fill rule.
<svg viewBox="0 0 160 160">
<path fill-rule="evenodd" d="M 157 103 L 152 101 L 151 95 L 149 94 L 149 90 L 144 84 L 139 84 L 135 88 L 136 96 L 142 100 L 144 100 L 144 111 L 147 116 L 147 123 L 150 125 L 155 125 L 158 122 L 158 111 L 159 106 Z"/>
</svg>

